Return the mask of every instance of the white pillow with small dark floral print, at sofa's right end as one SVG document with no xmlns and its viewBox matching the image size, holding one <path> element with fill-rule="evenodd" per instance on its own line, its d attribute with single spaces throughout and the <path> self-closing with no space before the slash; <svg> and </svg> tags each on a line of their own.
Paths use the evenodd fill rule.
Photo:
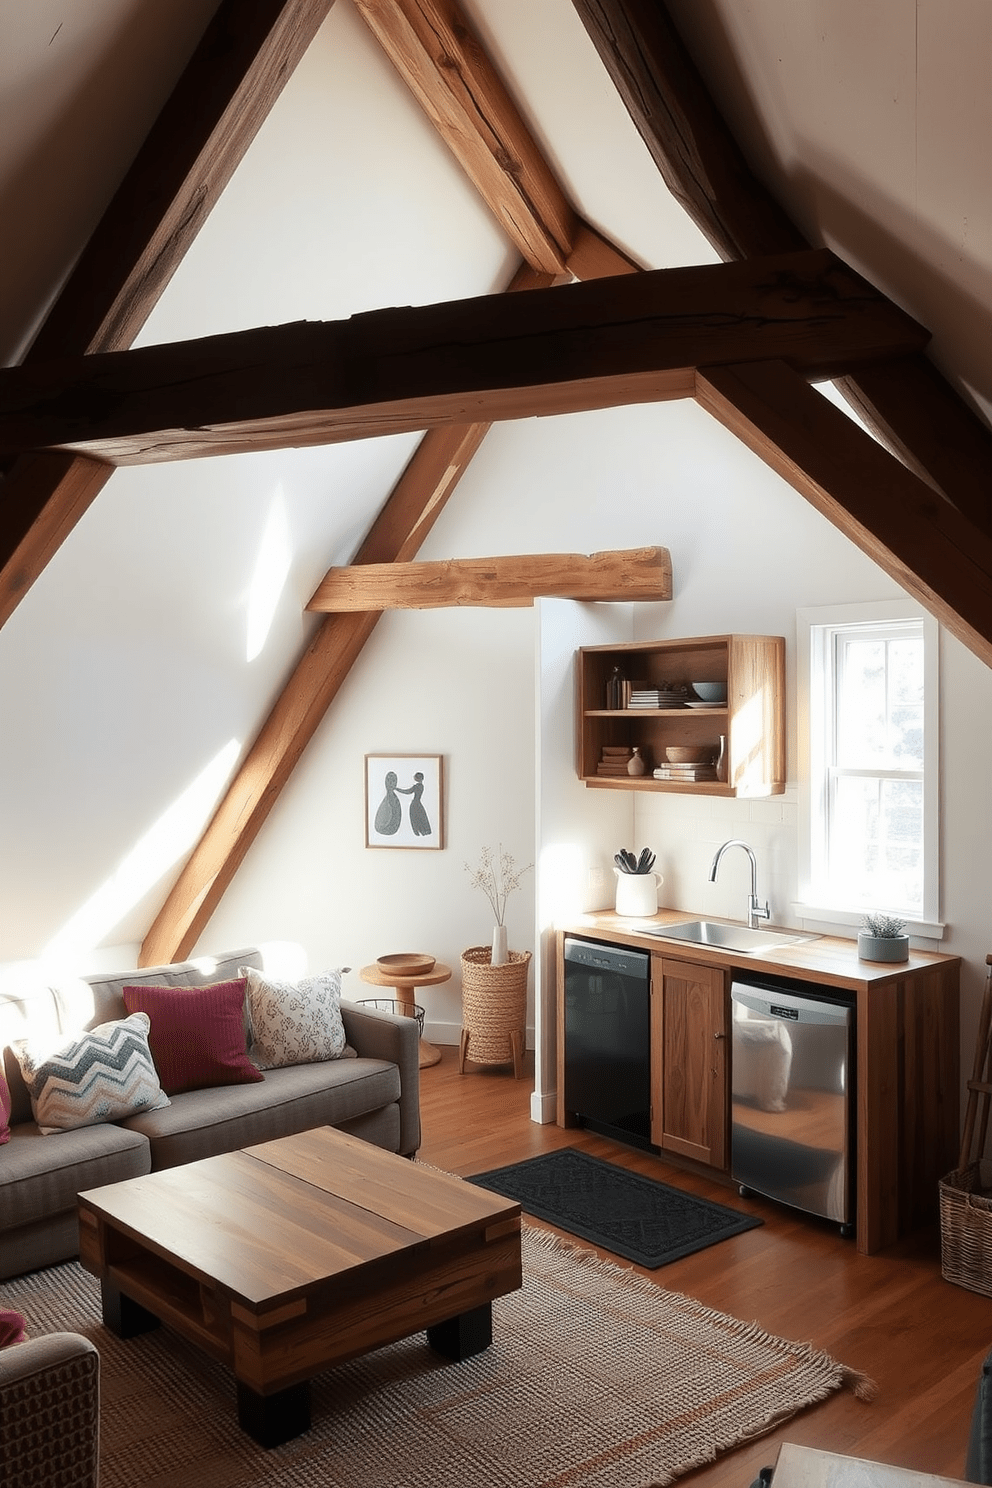
<svg viewBox="0 0 992 1488">
<path fill-rule="evenodd" d="M 275 981 L 253 966 L 239 967 L 238 975 L 248 982 L 250 1054 L 260 1070 L 342 1056 L 341 972 L 297 982 Z"/>
</svg>

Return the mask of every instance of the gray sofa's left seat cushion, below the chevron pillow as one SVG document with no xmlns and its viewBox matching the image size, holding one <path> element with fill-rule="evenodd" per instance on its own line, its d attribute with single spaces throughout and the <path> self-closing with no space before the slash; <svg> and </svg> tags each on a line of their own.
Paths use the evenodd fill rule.
<svg viewBox="0 0 992 1488">
<path fill-rule="evenodd" d="M 76 1195 L 83 1189 L 137 1178 L 150 1168 L 144 1137 L 113 1122 L 77 1126 L 57 1141 L 45 1137 L 34 1122 L 22 1122 L 10 1128 L 10 1141 L 0 1159 L 3 1229 L 15 1231 L 65 1210 L 74 1211 Z"/>
</svg>

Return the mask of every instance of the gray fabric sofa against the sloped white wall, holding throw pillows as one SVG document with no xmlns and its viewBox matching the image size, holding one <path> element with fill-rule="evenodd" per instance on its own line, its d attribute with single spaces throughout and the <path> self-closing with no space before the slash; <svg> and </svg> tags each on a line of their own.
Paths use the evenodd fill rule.
<svg viewBox="0 0 992 1488">
<path fill-rule="evenodd" d="M 181 961 L 88 976 L 71 988 L 0 990 L 0 1056 L 12 1097 L 10 1141 L 0 1146 L 0 1278 L 79 1254 L 76 1195 L 83 1189 L 312 1126 L 338 1126 L 405 1156 L 416 1152 L 421 1140 L 416 1021 L 344 998 L 342 1019 L 355 1058 L 266 1070 L 257 1083 L 186 1091 L 173 1095 L 171 1104 L 161 1110 L 42 1135 L 9 1048 L 13 1039 L 36 1030 L 70 1033 L 125 1018 L 122 990 L 128 985 L 198 987 L 236 978 L 241 966 L 266 970 L 263 951 L 248 948 L 208 963 Z M 80 995 L 85 1018 L 80 1018 Z"/>
</svg>

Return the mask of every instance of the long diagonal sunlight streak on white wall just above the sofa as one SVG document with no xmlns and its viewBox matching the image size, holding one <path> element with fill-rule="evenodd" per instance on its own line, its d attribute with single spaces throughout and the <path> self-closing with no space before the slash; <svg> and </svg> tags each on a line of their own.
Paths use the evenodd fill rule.
<svg viewBox="0 0 992 1488">
<path fill-rule="evenodd" d="M 131 848 L 110 878 L 49 940 L 42 952 L 46 961 L 73 961 L 95 951 L 162 873 L 189 853 L 214 809 L 239 751 L 241 743 L 229 740 L 214 754 L 207 768 Z"/>
</svg>

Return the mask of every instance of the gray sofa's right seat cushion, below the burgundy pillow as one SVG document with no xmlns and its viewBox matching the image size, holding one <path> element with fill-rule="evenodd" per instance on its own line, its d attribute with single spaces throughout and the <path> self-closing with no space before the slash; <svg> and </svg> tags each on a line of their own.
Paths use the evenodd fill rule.
<svg viewBox="0 0 992 1488">
<path fill-rule="evenodd" d="M 333 1059 L 269 1070 L 263 1085 L 175 1095 L 168 1110 L 123 1123 L 152 1147 L 152 1168 L 235 1152 L 312 1126 L 341 1126 L 400 1098 L 400 1071 L 385 1059 Z"/>
</svg>

